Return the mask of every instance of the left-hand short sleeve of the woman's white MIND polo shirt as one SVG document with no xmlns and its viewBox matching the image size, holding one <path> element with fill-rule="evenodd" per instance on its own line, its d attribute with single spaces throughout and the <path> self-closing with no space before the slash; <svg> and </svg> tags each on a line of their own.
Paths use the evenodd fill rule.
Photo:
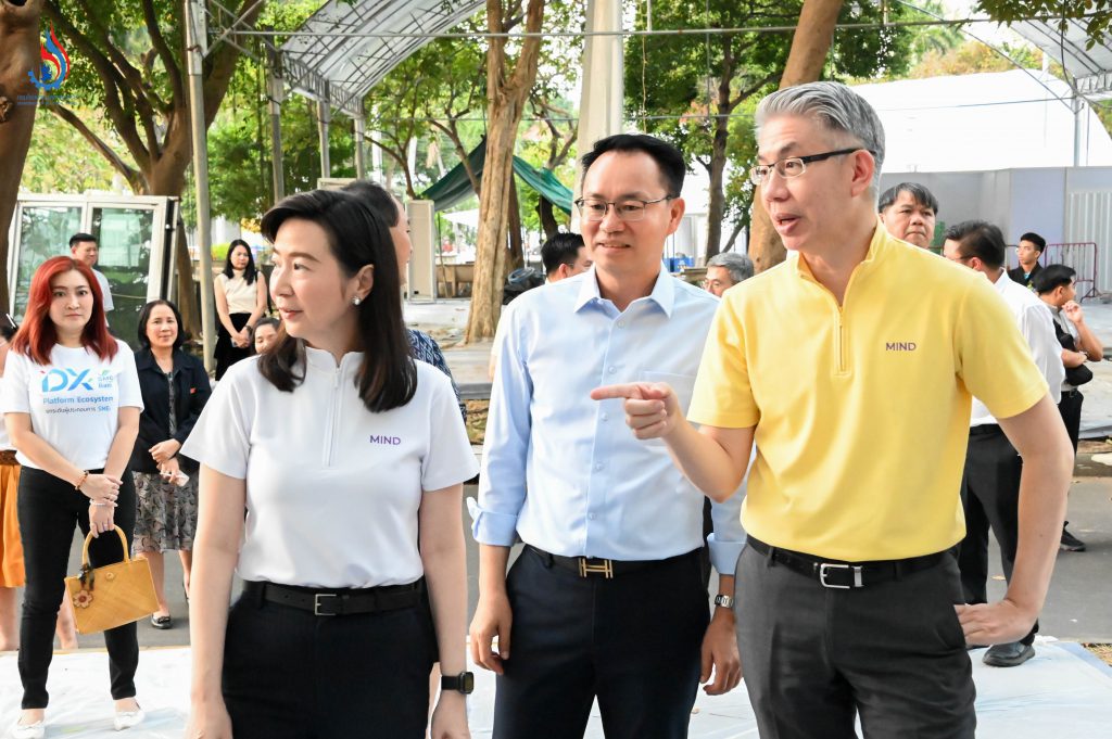
<svg viewBox="0 0 1112 739">
<path fill-rule="evenodd" d="M 221 475 L 247 479 L 255 397 L 249 372 L 255 362 L 232 366 L 217 383 L 181 453 Z"/>
</svg>

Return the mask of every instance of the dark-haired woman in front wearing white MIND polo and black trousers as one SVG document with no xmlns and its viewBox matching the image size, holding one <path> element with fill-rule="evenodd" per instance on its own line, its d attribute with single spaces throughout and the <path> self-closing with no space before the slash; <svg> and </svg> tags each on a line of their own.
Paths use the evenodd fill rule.
<svg viewBox="0 0 1112 739">
<path fill-rule="evenodd" d="M 188 736 L 421 739 L 439 656 L 431 736 L 461 739 L 476 463 L 451 385 L 410 357 L 390 234 L 357 198 L 292 196 L 262 232 L 278 342 L 182 448 L 201 462 Z"/>
</svg>

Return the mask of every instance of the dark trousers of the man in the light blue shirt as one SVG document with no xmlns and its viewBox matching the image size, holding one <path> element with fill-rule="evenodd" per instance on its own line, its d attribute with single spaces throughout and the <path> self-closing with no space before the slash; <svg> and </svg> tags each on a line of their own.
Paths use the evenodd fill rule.
<svg viewBox="0 0 1112 739">
<path fill-rule="evenodd" d="M 510 568 L 510 656 L 494 739 L 683 739 L 709 622 L 698 550 L 606 580 L 526 548 Z"/>
</svg>

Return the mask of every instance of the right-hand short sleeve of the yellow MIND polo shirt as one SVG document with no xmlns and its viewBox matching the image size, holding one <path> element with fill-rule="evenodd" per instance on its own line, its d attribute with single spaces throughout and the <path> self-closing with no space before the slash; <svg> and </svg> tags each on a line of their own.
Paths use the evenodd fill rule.
<svg viewBox="0 0 1112 739">
<path fill-rule="evenodd" d="M 980 282 L 971 284 L 959 313 L 957 375 L 993 416 L 1011 418 L 1039 402 L 1048 386 L 1007 303 Z"/>
</svg>

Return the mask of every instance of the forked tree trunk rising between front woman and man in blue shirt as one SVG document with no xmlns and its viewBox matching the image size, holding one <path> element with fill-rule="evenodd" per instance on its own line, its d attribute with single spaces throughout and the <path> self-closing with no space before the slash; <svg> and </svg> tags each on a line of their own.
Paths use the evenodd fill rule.
<svg viewBox="0 0 1112 739">
<path fill-rule="evenodd" d="M 506 9 L 500 0 L 487 0 L 487 29 L 506 32 Z M 545 0 L 529 0 L 525 31 L 539 33 Z M 537 77 L 539 36 L 526 37 L 513 71 L 506 68 L 506 39 L 492 37 L 487 49 L 487 158 L 479 186 L 479 233 L 475 248 L 475 281 L 471 310 L 464 341 L 493 337 L 502 312 L 503 276 L 507 272 L 506 231 L 509 190 L 514 177 L 514 144 L 525 101 Z"/>
</svg>

